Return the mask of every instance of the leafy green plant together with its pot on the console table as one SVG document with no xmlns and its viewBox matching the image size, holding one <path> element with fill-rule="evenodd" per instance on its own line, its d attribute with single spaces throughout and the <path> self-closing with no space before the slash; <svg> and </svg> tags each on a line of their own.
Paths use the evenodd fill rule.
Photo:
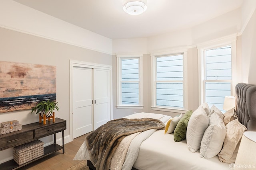
<svg viewBox="0 0 256 170">
<path fill-rule="evenodd" d="M 36 114 L 40 113 L 42 117 L 44 117 L 44 114 L 46 117 L 50 117 L 54 109 L 59 111 L 58 102 L 47 100 L 39 102 L 32 108 L 31 113 L 36 112 Z"/>
</svg>

